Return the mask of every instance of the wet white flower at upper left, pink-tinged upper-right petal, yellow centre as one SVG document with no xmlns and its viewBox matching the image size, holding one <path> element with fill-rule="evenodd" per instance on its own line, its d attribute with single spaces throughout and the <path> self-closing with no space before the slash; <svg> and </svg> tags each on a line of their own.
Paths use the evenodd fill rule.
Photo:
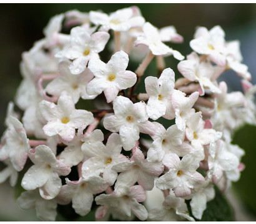
<svg viewBox="0 0 256 224">
<path fill-rule="evenodd" d="M 86 69 L 86 65 L 92 58 L 99 58 L 99 52 L 104 50 L 110 35 L 107 32 L 95 32 L 90 35 L 82 27 L 74 27 L 71 30 L 71 44 L 66 49 L 58 52 L 56 57 L 73 60 L 69 69 L 77 75 Z"/>
</svg>

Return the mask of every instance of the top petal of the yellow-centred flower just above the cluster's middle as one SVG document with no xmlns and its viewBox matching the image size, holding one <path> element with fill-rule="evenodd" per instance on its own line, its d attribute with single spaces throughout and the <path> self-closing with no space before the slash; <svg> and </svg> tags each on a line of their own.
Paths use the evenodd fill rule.
<svg viewBox="0 0 256 224">
<path fill-rule="evenodd" d="M 124 72 L 128 66 L 129 57 L 124 51 L 116 52 L 107 62 L 107 68 L 114 73 Z"/>
</svg>

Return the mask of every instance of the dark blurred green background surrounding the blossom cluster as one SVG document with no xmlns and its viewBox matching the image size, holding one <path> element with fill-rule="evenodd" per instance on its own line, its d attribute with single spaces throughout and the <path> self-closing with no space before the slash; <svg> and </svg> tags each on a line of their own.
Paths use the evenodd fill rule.
<svg viewBox="0 0 256 224">
<path fill-rule="evenodd" d="M 177 32 L 184 37 L 183 44 L 173 44 L 183 55 L 190 54 L 189 41 L 193 38 L 195 27 L 205 26 L 211 29 L 220 25 L 226 34 L 226 40 L 239 39 L 244 63 L 252 73 L 252 83 L 256 83 L 256 4 L 1 4 L 0 6 L 0 134 L 4 127 L 6 107 L 14 100 L 17 86 L 21 82 L 19 62 L 21 53 L 29 50 L 32 44 L 43 37 L 42 29 L 49 19 L 59 13 L 78 9 L 82 12 L 101 9 L 113 12 L 123 7 L 136 5 L 142 16 L 154 26 L 164 27 L 174 25 Z M 174 69 L 178 76 L 177 60 L 166 59 L 168 66 Z M 230 90 L 240 90 L 239 78 L 232 73 L 224 75 Z M 240 221 L 256 220 L 256 151 L 254 138 L 255 127 L 249 126 L 236 134 L 234 142 L 244 147 L 246 155 L 243 158 L 246 169 L 242 172 L 239 182 L 234 184 L 234 207 L 242 205 Z M 4 192 L 4 195 L 1 194 Z M 25 221 L 37 220 L 34 211 L 16 212 L 13 205 L 14 194 L 8 183 L 0 185 L 0 220 Z M 230 200 L 236 200 L 233 195 Z M 10 207 L 8 207 L 10 206 Z M 239 207 L 240 208 L 240 207 Z M 239 210 L 239 208 L 237 208 Z M 16 208 L 17 209 L 17 208 Z M 243 216 L 244 215 L 244 216 Z"/>
</svg>

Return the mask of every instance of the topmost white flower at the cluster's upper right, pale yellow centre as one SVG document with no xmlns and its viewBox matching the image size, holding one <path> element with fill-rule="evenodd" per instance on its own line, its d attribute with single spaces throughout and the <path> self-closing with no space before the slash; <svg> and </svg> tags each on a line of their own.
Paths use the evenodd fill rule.
<svg viewBox="0 0 256 224">
<path fill-rule="evenodd" d="M 195 39 L 190 41 L 190 47 L 199 54 L 208 55 L 217 65 L 225 67 L 225 33 L 220 26 L 210 30 L 205 27 L 197 28 Z"/>
</svg>

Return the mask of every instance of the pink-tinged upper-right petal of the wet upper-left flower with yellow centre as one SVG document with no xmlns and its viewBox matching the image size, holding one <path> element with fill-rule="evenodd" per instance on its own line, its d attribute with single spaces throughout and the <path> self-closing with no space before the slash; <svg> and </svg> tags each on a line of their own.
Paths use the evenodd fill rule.
<svg viewBox="0 0 256 224">
<path fill-rule="evenodd" d="M 107 32 L 95 32 L 91 35 L 90 45 L 96 53 L 104 50 L 110 35 Z"/>
</svg>

